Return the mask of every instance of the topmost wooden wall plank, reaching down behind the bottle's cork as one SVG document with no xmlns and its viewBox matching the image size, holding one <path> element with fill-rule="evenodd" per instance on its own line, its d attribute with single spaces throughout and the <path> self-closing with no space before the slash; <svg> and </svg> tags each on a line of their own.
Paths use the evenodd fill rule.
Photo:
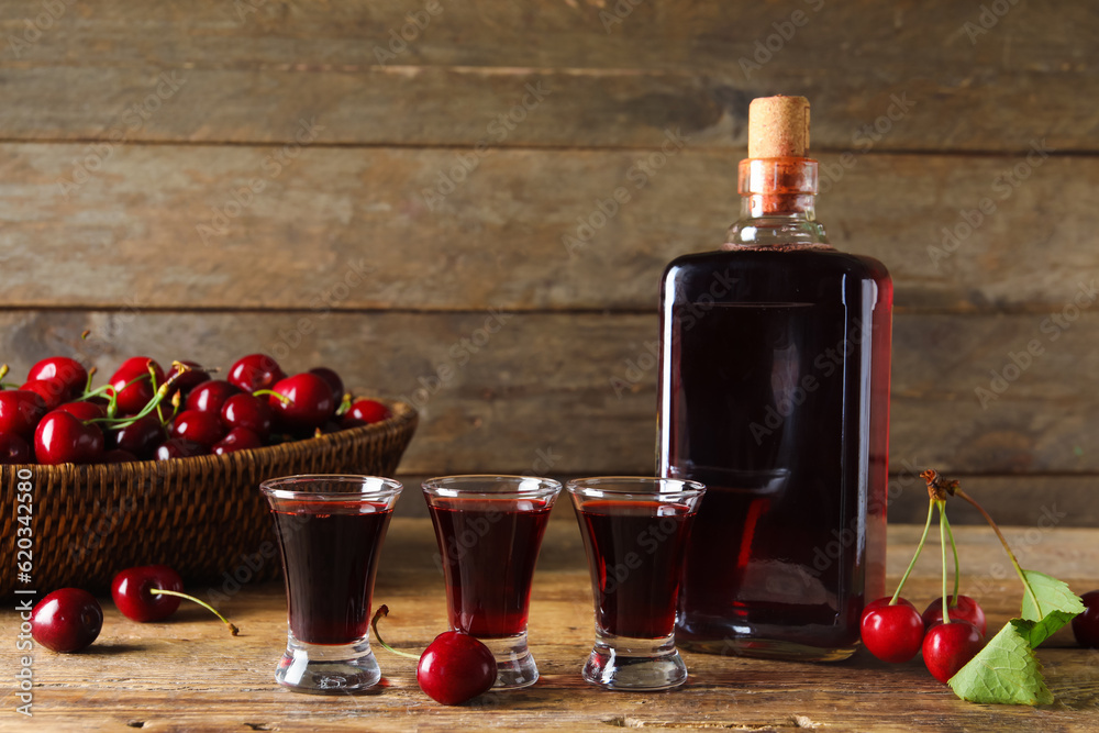
<svg viewBox="0 0 1099 733">
<path fill-rule="evenodd" d="M 4 35 L 24 43 L 7 44 L 0 82 L 30 103 L 3 105 L 0 129 L 104 138 L 176 69 L 181 104 L 135 138 L 285 141 L 270 121 L 306 114 L 329 119 L 333 142 L 471 145 L 541 80 L 552 104 L 504 144 L 645 146 L 673 124 L 741 146 L 748 100 L 787 91 L 812 100 L 818 149 L 851 147 L 895 95 L 914 107 L 882 149 L 1096 149 L 1096 112 L 1077 100 L 1096 96 L 1099 20 L 1069 0 L 1012 5 L 987 33 L 979 7 L 950 0 L 426 5 L 73 2 L 35 34 L 42 5 L 10 2 Z M 402 27 L 409 13 L 422 30 Z"/>
</svg>

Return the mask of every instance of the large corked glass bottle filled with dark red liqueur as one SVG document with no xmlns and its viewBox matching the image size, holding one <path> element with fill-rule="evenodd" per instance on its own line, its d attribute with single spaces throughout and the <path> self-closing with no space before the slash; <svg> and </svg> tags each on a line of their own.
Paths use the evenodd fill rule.
<svg viewBox="0 0 1099 733">
<path fill-rule="evenodd" d="M 777 119 L 753 124 L 757 112 Z M 659 470 L 707 486 L 676 641 L 842 659 L 885 591 L 892 285 L 814 219 L 808 102 L 756 100 L 751 114 L 750 142 L 779 140 L 741 164 L 730 242 L 663 281 Z"/>
</svg>

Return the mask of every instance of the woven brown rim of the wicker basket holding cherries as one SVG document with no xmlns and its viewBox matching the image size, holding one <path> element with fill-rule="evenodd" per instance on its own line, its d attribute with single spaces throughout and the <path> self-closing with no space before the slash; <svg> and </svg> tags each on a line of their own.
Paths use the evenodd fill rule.
<svg viewBox="0 0 1099 733">
<path fill-rule="evenodd" d="M 278 443 L 275 445 L 264 445 L 258 448 L 244 448 L 241 451 L 234 451 L 232 453 L 223 453 L 222 455 L 215 455 L 212 453 L 206 453 L 198 456 L 187 456 L 181 458 L 168 458 L 167 460 L 158 460 L 156 458 L 149 458 L 145 460 L 126 460 L 121 463 L 110 463 L 110 464 L 8 464 L 3 468 L 10 471 L 20 471 L 22 469 L 31 469 L 36 474 L 49 473 L 49 471 L 63 471 L 70 473 L 74 469 L 82 468 L 97 468 L 101 470 L 137 470 L 145 469 L 151 466 L 163 466 L 165 464 L 180 465 L 182 463 L 197 463 L 204 462 L 208 465 L 213 462 L 213 466 L 230 466 L 234 460 L 251 459 L 255 456 L 264 455 L 278 455 L 287 451 L 300 451 L 319 448 L 328 445 L 338 445 L 342 443 L 348 443 L 357 440 L 360 436 L 370 435 L 374 433 L 386 433 L 387 431 L 393 429 L 400 429 L 406 426 L 408 423 L 415 423 L 419 421 L 419 414 L 415 408 L 413 408 L 408 402 L 402 402 L 401 400 L 390 400 L 380 397 L 369 397 L 365 396 L 364 399 L 373 399 L 381 402 L 389 408 L 390 417 L 386 418 L 380 422 L 370 423 L 368 425 L 359 425 L 357 427 L 347 427 L 345 430 L 340 430 L 334 433 L 324 433 L 315 437 L 307 437 L 298 441 L 288 441 L 286 443 Z M 234 457 L 235 456 L 235 457 Z"/>
</svg>

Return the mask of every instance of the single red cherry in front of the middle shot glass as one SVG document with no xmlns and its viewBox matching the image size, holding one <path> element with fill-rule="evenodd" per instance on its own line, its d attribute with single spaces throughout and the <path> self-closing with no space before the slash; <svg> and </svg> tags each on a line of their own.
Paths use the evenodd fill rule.
<svg viewBox="0 0 1099 733">
<path fill-rule="evenodd" d="M 415 681 L 432 700 L 456 706 L 492 688 L 496 658 L 474 636 L 444 631 L 420 655 Z"/>
</svg>

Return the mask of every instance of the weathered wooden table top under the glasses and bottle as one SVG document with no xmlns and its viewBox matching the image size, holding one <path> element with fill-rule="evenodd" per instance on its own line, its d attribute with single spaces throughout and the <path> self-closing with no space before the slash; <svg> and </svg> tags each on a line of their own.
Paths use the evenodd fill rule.
<svg viewBox="0 0 1099 733">
<path fill-rule="evenodd" d="M 919 537 L 890 527 L 895 585 Z M 963 592 L 979 596 L 989 628 L 1018 614 L 1021 589 L 991 532 L 958 527 Z M 1099 530 L 1008 530 L 1024 567 L 1099 587 Z M 445 628 L 434 538 L 422 519 L 393 521 L 381 557 L 376 603 L 395 646 L 419 651 Z M 925 552 L 906 596 L 917 606 L 939 595 L 937 546 Z M 190 588 L 200 596 L 207 587 Z M 76 655 L 33 652 L 33 719 L 14 712 L 11 686 L 19 618 L 5 603 L 0 638 L 7 682 L 0 731 L 9 730 L 517 730 L 606 731 L 608 728 L 910 731 L 1094 731 L 1099 726 L 1099 652 L 1073 645 L 1064 630 L 1039 656 L 1057 700 L 1044 708 L 976 706 L 956 699 L 918 658 L 886 665 L 859 652 L 837 664 L 777 663 L 684 653 L 690 679 L 677 690 L 608 692 L 580 678 L 592 638 L 591 597 L 574 522 L 551 522 L 535 575 L 530 640 L 542 677 L 531 688 L 481 696 L 462 707 L 436 704 L 417 687 L 414 663 L 378 646 L 384 679 L 375 693 L 315 697 L 274 681 L 286 634 L 280 581 L 246 585 L 222 604 L 241 628 L 225 628 L 198 608 L 166 623 L 137 624 L 103 600 L 99 640 Z"/>
</svg>

